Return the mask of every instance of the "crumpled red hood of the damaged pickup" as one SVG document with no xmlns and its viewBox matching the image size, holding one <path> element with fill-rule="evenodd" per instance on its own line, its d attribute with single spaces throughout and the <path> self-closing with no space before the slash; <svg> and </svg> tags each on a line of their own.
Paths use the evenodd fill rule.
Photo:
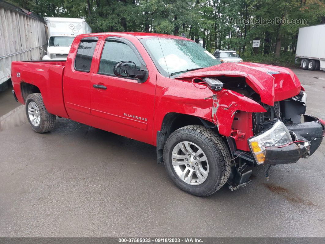
<svg viewBox="0 0 325 244">
<path fill-rule="evenodd" d="M 217 76 L 245 77 L 247 84 L 260 95 L 261 101 L 271 106 L 276 101 L 297 95 L 301 90 L 300 81 L 292 70 L 255 63 L 223 63 L 183 73 L 177 79 Z"/>
</svg>

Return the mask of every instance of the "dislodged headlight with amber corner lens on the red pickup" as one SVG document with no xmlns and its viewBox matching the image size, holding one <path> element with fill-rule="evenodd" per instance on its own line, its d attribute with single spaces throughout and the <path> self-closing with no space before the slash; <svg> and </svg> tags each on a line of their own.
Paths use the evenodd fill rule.
<svg viewBox="0 0 325 244">
<path fill-rule="evenodd" d="M 249 147 L 258 165 L 265 160 L 265 147 L 278 147 L 292 142 L 291 135 L 283 122 L 276 122 L 264 133 L 248 140 Z"/>
</svg>

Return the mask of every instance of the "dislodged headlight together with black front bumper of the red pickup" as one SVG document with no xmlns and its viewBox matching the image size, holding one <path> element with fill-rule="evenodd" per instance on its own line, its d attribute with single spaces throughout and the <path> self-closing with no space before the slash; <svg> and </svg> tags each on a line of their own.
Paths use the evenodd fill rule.
<svg viewBox="0 0 325 244">
<path fill-rule="evenodd" d="M 248 140 L 257 165 L 296 163 L 317 150 L 324 126 L 317 118 L 303 117 L 302 123 L 284 124 L 278 120 L 270 129 Z"/>
</svg>

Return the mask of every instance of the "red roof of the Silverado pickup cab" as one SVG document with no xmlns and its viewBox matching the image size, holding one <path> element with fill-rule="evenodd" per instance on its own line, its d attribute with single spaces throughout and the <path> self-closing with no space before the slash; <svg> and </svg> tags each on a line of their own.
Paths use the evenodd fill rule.
<svg viewBox="0 0 325 244">
<path fill-rule="evenodd" d="M 166 34 L 157 34 L 157 33 L 146 33 L 146 32 L 103 32 L 103 33 L 89 33 L 78 35 L 79 37 L 88 37 L 88 36 L 115 36 L 116 34 L 120 36 L 135 36 L 138 39 L 142 38 L 152 38 L 152 37 L 160 37 L 160 38 L 173 38 L 173 39 L 182 39 L 182 40 L 190 40 L 188 38 L 182 36 L 172 36 Z M 190 40 L 191 41 L 191 40 Z"/>
</svg>

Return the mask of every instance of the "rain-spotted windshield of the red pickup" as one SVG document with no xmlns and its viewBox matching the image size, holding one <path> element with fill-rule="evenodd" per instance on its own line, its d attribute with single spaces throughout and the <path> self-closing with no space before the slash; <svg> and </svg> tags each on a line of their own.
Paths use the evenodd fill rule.
<svg viewBox="0 0 325 244">
<path fill-rule="evenodd" d="M 154 37 L 140 41 L 159 72 L 165 76 L 220 64 L 210 52 L 190 40 Z"/>
</svg>

